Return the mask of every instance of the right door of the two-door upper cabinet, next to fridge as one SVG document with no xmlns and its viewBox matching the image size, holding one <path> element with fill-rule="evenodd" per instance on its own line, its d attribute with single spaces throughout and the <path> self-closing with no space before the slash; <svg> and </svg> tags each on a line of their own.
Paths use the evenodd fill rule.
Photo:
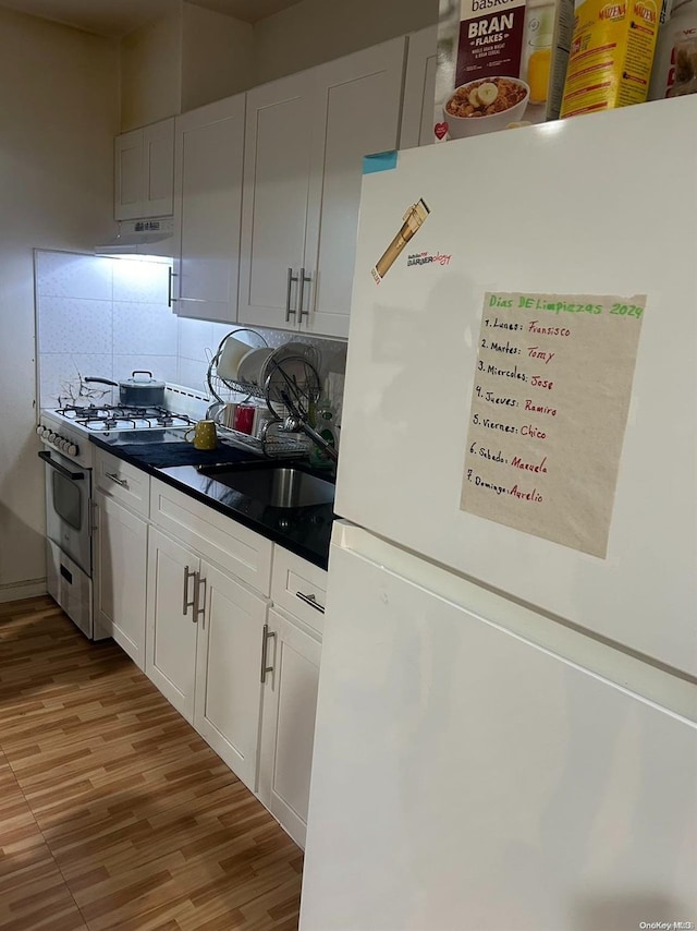
<svg viewBox="0 0 697 931">
<path fill-rule="evenodd" d="M 348 335 L 363 157 L 395 149 L 405 39 L 323 64 L 317 72 L 303 329 Z"/>
</svg>

